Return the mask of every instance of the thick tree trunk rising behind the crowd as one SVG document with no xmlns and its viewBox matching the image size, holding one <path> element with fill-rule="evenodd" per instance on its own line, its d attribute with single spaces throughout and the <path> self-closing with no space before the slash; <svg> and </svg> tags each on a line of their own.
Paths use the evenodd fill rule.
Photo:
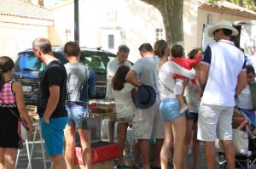
<svg viewBox="0 0 256 169">
<path fill-rule="evenodd" d="M 160 11 L 170 45 L 183 42 L 183 0 L 142 0 Z"/>
</svg>

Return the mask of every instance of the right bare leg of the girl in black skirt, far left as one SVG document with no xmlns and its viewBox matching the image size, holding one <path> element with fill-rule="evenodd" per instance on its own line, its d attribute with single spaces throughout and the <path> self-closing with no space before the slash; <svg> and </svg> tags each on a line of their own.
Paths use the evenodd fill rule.
<svg viewBox="0 0 256 169">
<path fill-rule="evenodd" d="M 4 151 L 4 168 L 15 169 L 15 162 L 17 157 L 17 149 L 5 148 Z"/>
</svg>

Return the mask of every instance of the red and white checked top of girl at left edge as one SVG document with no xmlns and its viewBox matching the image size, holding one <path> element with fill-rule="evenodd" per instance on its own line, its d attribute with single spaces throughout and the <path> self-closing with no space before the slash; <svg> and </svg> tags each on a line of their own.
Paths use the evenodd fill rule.
<svg viewBox="0 0 256 169">
<path fill-rule="evenodd" d="M 3 88 L 0 91 L 0 104 L 16 104 L 15 94 L 12 91 L 13 81 L 3 83 Z"/>
</svg>

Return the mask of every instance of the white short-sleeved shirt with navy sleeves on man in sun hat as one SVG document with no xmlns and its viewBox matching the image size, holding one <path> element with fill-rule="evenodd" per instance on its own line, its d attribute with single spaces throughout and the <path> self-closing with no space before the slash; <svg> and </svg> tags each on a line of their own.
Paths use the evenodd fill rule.
<svg viewBox="0 0 256 169">
<path fill-rule="evenodd" d="M 201 103 L 235 106 L 237 77 L 245 71 L 245 59 L 234 42 L 219 40 L 210 44 L 201 64 L 209 65 Z"/>
</svg>

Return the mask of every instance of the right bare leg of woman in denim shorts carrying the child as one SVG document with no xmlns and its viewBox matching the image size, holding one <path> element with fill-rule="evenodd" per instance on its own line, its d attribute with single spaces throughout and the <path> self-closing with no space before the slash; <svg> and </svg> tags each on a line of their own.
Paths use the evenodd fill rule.
<svg viewBox="0 0 256 169">
<path fill-rule="evenodd" d="M 172 122 L 172 132 L 174 138 L 173 166 L 175 169 L 180 169 L 183 164 L 183 144 L 186 137 L 186 119 L 184 117 Z"/>
</svg>

